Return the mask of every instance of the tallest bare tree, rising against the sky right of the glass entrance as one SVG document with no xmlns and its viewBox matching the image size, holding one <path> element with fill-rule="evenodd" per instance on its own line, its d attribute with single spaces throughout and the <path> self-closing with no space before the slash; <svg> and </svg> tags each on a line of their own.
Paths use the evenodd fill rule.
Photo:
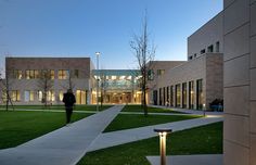
<svg viewBox="0 0 256 165">
<path fill-rule="evenodd" d="M 148 116 L 148 104 L 146 104 L 146 82 L 148 73 L 152 68 L 151 61 L 155 56 L 155 47 L 150 45 L 149 33 L 148 33 L 148 20 L 144 17 L 142 24 L 142 34 L 135 35 L 132 41 L 130 41 L 130 47 L 133 51 L 136 60 L 138 62 L 138 67 L 141 73 L 140 85 L 142 91 L 141 105 L 143 106 L 144 115 Z"/>
</svg>

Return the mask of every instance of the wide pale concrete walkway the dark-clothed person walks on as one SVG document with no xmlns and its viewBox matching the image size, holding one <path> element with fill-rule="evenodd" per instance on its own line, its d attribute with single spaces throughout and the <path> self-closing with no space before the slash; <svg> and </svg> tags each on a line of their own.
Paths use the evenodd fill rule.
<svg viewBox="0 0 256 165">
<path fill-rule="evenodd" d="M 0 164 L 75 165 L 121 109 L 110 107 L 16 148 L 0 150 Z"/>
</svg>

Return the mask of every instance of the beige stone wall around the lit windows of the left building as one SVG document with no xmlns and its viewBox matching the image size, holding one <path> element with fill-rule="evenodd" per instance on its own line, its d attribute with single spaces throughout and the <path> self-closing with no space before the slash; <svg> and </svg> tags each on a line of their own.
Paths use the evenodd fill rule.
<svg viewBox="0 0 256 165">
<path fill-rule="evenodd" d="M 5 59 L 5 71 L 10 77 L 10 89 L 20 90 L 21 101 L 14 102 L 14 104 L 39 104 L 38 90 L 40 79 L 26 79 L 25 72 L 27 69 L 53 69 L 54 80 L 52 82 L 52 90 L 55 93 L 55 101 L 52 103 L 62 103 L 59 99 L 60 91 L 65 92 L 69 88 L 68 79 L 59 79 L 59 69 L 78 69 L 78 78 L 72 78 L 74 86 L 73 91 L 84 90 L 87 91 L 87 98 L 90 98 L 90 71 L 91 61 L 89 58 L 7 58 Z M 12 71 L 22 71 L 22 79 L 12 78 Z M 34 91 L 35 101 L 25 102 L 25 91 Z M 87 100 L 89 103 L 90 100 Z"/>
</svg>

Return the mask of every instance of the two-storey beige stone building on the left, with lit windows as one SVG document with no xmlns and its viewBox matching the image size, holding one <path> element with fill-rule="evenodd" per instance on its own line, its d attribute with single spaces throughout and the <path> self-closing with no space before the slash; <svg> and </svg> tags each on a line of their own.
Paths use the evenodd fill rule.
<svg viewBox="0 0 256 165">
<path fill-rule="evenodd" d="M 90 103 L 92 69 L 89 58 L 5 59 L 5 77 L 9 78 L 10 97 L 14 104 L 40 104 L 44 100 L 59 104 L 69 88 L 77 104 Z M 4 93 L 1 96 L 4 100 Z"/>
</svg>

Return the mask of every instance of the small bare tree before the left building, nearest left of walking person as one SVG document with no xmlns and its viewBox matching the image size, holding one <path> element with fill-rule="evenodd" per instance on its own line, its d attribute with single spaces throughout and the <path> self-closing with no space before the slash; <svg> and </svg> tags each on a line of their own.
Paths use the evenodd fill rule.
<svg viewBox="0 0 256 165">
<path fill-rule="evenodd" d="M 51 71 L 42 69 L 38 79 L 38 88 L 42 92 L 42 103 L 44 104 L 44 107 L 48 106 L 48 92 L 52 89 L 52 87 L 53 80 L 51 78 Z"/>
</svg>

